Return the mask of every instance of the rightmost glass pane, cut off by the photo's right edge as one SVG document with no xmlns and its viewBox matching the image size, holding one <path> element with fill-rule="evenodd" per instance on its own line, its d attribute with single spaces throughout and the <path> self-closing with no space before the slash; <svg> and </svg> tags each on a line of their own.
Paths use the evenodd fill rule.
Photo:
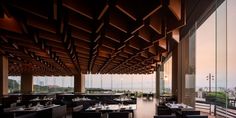
<svg viewBox="0 0 236 118">
<path fill-rule="evenodd" d="M 227 61 L 228 61 L 228 80 L 227 80 L 227 87 L 228 87 L 228 107 L 231 111 L 236 113 L 236 51 L 235 51 L 235 44 L 236 44 L 236 36 L 235 36 L 235 26 L 236 26 L 236 13 L 235 13 L 235 0 L 228 0 L 227 1 Z M 235 116 L 236 117 L 236 116 Z"/>
</svg>

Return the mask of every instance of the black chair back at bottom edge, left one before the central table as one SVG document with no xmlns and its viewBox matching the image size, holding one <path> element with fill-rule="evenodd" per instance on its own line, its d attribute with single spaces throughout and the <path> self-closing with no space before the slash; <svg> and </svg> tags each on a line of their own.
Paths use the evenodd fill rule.
<svg viewBox="0 0 236 118">
<path fill-rule="evenodd" d="M 101 118 L 101 112 L 76 112 L 74 118 Z"/>
</svg>

